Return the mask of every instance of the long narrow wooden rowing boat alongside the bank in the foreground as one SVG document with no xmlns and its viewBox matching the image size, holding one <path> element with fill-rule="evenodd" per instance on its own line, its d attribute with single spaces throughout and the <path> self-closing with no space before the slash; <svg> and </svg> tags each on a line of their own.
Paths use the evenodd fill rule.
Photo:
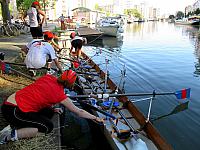
<svg viewBox="0 0 200 150">
<path fill-rule="evenodd" d="M 90 67 L 87 67 L 87 69 L 81 68 L 81 71 L 99 75 L 93 77 L 88 77 L 88 75 L 85 74 L 79 75 L 79 85 L 82 87 L 83 94 L 90 95 L 93 92 L 103 93 L 105 85 L 102 83 L 104 83 L 105 80 L 107 83 L 107 93 L 113 93 L 113 91 L 116 90 L 117 85 L 109 77 L 106 77 L 107 73 L 102 71 L 100 67 L 96 65 L 95 62 L 91 60 L 85 53 L 82 53 L 82 57 L 84 60 L 88 60 L 84 63 L 87 62 L 86 65 Z M 105 79 L 105 77 L 107 79 Z M 118 93 L 122 93 L 122 91 L 118 89 Z M 101 102 L 106 101 L 107 97 L 101 97 L 100 99 Z M 127 96 L 122 95 L 119 97 L 113 97 L 112 99 L 114 99 L 114 101 L 117 102 L 120 107 L 113 106 L 110 112 L 107 108 L 105 108 L 105 105 L 96 105 L 100 101 L 99 99 L 90 98 L 90 104 L 93 104 L 93 107 L 97 106 L 97 111 L 93 111 L 95 115 L 105 117 L 106 113 L 102 114 L 102 112 L 98 111 L 100 109 L 104 112 L 108 112 L 108 114 L 110 113 L 111 117 L 115 117 L 115 119 L 109 119 L 108 117 L 108 119 L 105 120 L 103 130 L 105 137 L 113 149 L 136 149 L 136 145 L 139 140 L 142 140 L 148 149 L 172 149 L 171 145 L 165 141 L 152 123 L 147 121 L 144 115 L 128 99 Z M 122 131 L 126 131 L 126 134 L 123 134 Z"/>
</svg>

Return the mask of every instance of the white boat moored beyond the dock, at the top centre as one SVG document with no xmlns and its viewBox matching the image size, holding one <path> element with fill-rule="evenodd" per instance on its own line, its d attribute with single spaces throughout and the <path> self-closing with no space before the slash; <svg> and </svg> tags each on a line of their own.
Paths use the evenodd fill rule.
<svg viewBox="0 0 200 150">
<path fill-rule="evenodd" d="M 97 29 L 104 35 L 117 37 L 123 33 L 123 21 L 117 17 L 106 17 L 97 23 Z"/>
</svg>

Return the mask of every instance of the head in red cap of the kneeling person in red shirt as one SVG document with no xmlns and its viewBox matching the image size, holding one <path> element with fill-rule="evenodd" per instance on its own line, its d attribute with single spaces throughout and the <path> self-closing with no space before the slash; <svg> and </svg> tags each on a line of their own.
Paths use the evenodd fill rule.
<svg viewBox="0 0 200 150">
<path fill-rule="evenodd" d="M 77 75 L 73 70 L 66 70 L 62 73 L 62 75 L 58 78 L 58 83 L 62 84 L 64 87 L 70 89 L 73 87 L 76 81 Z"/>
</svg>

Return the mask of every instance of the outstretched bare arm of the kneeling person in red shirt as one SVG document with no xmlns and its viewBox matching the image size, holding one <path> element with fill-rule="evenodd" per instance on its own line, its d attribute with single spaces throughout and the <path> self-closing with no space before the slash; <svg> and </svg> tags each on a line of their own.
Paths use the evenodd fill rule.
<svg viewBox="0 0 200 150">
<path fill-rule="evenodd" d="M 86 119 L 92 119 L 92 120 L 96 120 L 98 122 L 103 122 L 102 118 L 96 117 L 90 113 L 88 113 L 87 111 L 78 108 L 77 106 L 75 106 L 70 98 L 67 98 L 65 100 L 63 100 L 61 102 L 61 104 L 63 104 L 68 110 L 70 110 L 71 112 L 77 114 L 79 117 L 82 118 L 86 118 Z"/>
</svg>

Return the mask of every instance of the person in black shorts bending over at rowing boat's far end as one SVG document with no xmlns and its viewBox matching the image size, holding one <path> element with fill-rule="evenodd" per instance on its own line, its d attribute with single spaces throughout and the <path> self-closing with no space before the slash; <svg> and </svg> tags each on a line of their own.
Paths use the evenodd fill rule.
<svg viewBox="0 0 200 150">
<path fill-rule="evenodd" d="M 75 49 L 75 55 L 78 59 L 81 56 L 81 49 L 83 44 L 87 44 L 87 39 L 76 36 L 76 32 L 72 32 L 70 34 L 70 38 L 71 38 L 70 54 L 72 54 L 72 50 Z"/>
</svg>

